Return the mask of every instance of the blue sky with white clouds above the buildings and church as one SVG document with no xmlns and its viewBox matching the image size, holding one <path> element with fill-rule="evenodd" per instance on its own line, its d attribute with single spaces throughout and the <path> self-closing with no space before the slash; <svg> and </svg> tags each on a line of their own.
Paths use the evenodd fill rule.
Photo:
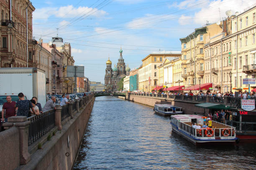
<svg viewBox="0 0 256 170">
<path fill-rule="evenodd" d="M 151 52 L 180 51 L 186 37 L 207 20 L 215 23 L 225 11 L 243 12 L 254 0 L 31 0 L 33 36 L 49 42 L 62 37 L 72 46 L 84 75 L 104 83 L 108 56 L 112 67 L 123 49 L 125 63 L 134 69 Z M 57 30 L 59 28 L 59 30 Z"/>
</svg>

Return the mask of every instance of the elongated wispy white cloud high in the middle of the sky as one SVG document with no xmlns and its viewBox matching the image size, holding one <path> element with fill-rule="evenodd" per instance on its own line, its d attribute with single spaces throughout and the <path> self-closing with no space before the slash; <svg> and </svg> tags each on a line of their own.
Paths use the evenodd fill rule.
<svg viewBox="0 0 256 170">
<path fill-rule="evenodd" d="M 143 29 L 150 28 L 156 25 L 156 23 L 161 23 L 162 21 L 174 19 L 173 15 L 152 15 L 146 14 L 144 17 L 135 18 L 131 22 L 126 24 L 126 27 L 130 29 Z"/>
</svg>

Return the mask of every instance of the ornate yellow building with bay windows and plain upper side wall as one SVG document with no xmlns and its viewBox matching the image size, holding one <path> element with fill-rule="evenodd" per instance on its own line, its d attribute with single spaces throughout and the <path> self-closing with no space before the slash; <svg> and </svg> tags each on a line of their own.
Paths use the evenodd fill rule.
<svg viewBox="0 0 256 170">
<path fill-rule="evenodd" d="M 222 33 L 217 24 L 207 24 L 196 28 L 195 32 L 187 37 L 180 38 L 182 43 L 182 77 L 186 87 L 204 82 L 204 45 L 210 39 Z M 201 79 L 199 79 L 199 77 Z"/>
</svg>

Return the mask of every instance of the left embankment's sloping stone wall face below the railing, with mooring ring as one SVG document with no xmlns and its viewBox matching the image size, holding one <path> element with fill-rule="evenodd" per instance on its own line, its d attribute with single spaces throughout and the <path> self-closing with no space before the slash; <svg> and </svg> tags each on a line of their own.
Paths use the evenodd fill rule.
<svg viewBox="0 0 256 170">
<path fill-rule="evenodd" d="M 40 150 L 31 155 L 31 161 L 18 170 L 70 170 L 76 160 L 87 122 L 95 101 L 93 97 L 73 119 L 69 119 L 54 137 L 47 141 Z"/>
</svg>

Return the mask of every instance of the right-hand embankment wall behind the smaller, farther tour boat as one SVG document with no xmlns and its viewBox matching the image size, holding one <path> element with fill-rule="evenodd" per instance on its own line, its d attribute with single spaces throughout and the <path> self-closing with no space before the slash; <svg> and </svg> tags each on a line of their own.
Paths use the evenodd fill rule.
<svg viewBox="0 0 256 170">
<path fill-rule="evenodd" d="M 186 101 L 186 100 L 175 100 L 174 98 L 164 98 L 164 97 L 151 97 L 144 95 L 125 95 L 125 100 L 132 102 L 137 102 L 143 105 L 154 107 L 155 104 L 171 104 L 177 107 L 182 107 L 184 114 L 195 114 L 197 113 L 207 113 L 208 109 L 203 109 L 196 107 L 196 104 L 200 102 Z"/>
</svg>

